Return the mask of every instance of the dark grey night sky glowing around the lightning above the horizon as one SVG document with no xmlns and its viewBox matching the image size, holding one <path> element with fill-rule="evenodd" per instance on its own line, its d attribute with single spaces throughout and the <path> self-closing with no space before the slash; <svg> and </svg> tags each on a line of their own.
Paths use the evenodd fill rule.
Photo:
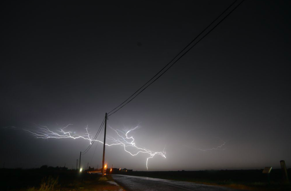
<svg viewBox="0 0 291 191">
<path fill-rule="evenodd" d="M 233 1 L 132 1 L 88 6 L 3 5 L 0 167 L 76 167 L 81 139 L 23 129 L 69 126 L 94 136 Z M 290 1 L 245 1 L 168 72 L 108 119 L 136 144 L 165 148 L 149 170 L 291 167 Z M 108 128 L 108 136 L 113 136 Z M 103 135 L 101 135 L 102 137 Z M 206 150 L 225 145 L 222 150 Z M 81 166 L 102 164 L 102 144 Z M 106 147 L 105 161 L 145 170 L 148 154 Z M 92 162 L 91 162 L 92 161 Z"/>
</svg>

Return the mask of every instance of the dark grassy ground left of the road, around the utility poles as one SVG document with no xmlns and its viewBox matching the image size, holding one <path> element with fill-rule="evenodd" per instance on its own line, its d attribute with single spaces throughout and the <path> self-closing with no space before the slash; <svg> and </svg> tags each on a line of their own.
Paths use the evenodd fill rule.
<svg viewBox="0 0 291 191">
<path fill-rule="evenodd" d="M 0 169 L 0 190 L 59 191 L 59 190 L 119 190 L 119 186 L 100 179 L 99 174 L 76 170 Z M 111 177 L 107 177 L 109 180 Z"/>
</svg>

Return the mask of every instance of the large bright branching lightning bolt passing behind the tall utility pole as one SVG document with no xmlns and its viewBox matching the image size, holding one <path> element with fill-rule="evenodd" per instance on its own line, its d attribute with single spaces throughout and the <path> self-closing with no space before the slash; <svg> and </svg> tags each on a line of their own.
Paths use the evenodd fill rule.
<svg viewBox="0 0 291 191">
<path fill-rule="evenodd" d="M 39 126 L 36 125 L 36 127 L 38 128 L 38 130 L 33 131 L 33 130 L 27 130 L 27 129 L 23 129 L 27 132 L 30 132 L 33 136 L 35 136 L 35 138 L 38 139 L 49 139 L 49 138 L 55 138 L 55 139 L 65 139 L 65 138 L 71 138 L 71 139 L 85 139 L 88 140 L 90 144 L 92 144 L 92 142 L 94 141 L 98 141 L 101 142 L 102 144 L 104 144 L 102 141 L 99 140 L 95 140 L 92 139 L 92 136 L 90 136 L 90 133 L 88 131 L 88 126 L 86 126 L 86 133 L 84 134 L 84 136 L 80 136 L 77 135 L 71 131 L 65 131 L 65 128 L 67 128 L 68 126 L 73 125 L 73 124 L 69 124 L 63 128 L 61 128 L 60 130 L 58 130 L 58 132 L 53 132 L 51 130 L 49 130 L 49 128 L 47 126 Z M 110 126 L 109 126 L 110 127 Z M 146 169 L 148 170 L 148 161 L 149 159 L 153 158 L 155 155 L 160 155 L 164 158 L 166 158 L 166 152 L 165 152 L 165 148 L 162 152 L 154 152 L 152 150 L 146 149 L 144 147 L 138 147 L 135 144 L 135 139 L 133 138 L 133 136 L 129 136 L 129 133 L 132 132 L 135 129 L 138 129 L 139 126 L 136 126 L 128 131 L 121 131 L 119 129 L 113 129 L 112 127 L 110 127 L 110 129 L 112 129 L 114 132 L 116 132 L 117 134 L 117 138 L 113 138 L 113 137 L 108 137 L 107 139 L 109 139 L 110 141 L 112 141 L 112 144 L 105 144 L 106 146 L 113 146 L 113 145 L 120 145 L 124 148 L 125 152 L 128 152 L 130 155 L 132 156 L 136 156 L 139 153 L 148 153 L 150 156 L 146 159 Z M 73 135 L 74 134 L 74 135 Z M 128 150 L 128 148 L 134 148 L 135 152 L 130 152 Z"/>
</svg>

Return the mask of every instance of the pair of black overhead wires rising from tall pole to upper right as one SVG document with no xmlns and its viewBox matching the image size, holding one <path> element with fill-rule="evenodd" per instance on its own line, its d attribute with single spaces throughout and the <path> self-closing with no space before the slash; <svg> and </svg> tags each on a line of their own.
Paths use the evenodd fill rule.
<svg viewBox="0 0 291 191">
<path fill-rule="evenodd" d="M 235 0 L 231 5 L 229 5 L 228 8 L 226 8 L 226 10 L 224 10 L 216 19 L 214 19 L 211 24 L 209 24 L 202 32 L 199 33 L 199 35 L 197 35 L 195 37 L 195 39 L 193 39 L 181 52 L 179 52 L 179 54 L 181 54 L 190 44 L 192 44 L 192 42 L 194 42 L 207 28 L 209 28 L 210 25 L 212 25 L 221 15 L 223 15 L 237 0 Z M 243 0 L 244 1 L 244 0 Z M 184 52 L 174 63 L 172 63 L 172 65 L 169 66 L 169 68 L 167 68 L 164 72 L 162 72 L 162 70 L 164 70 L 174 59 L 176 59 L 176 57 L 178 57 L 179 54 L 177 54 L 166 66 L 164 66 L 164 68 L 162 68 L 156 75 L 154 75 L 148 82 L 146 82 L 142 87 L 144 87 L 146 84 L 148 84 L 153 78 L 155 78 L 160 72 L 162 72 L 161 75 L 159 75 L 154 81 L 152 81 L 149 85 L 151 85 L 153 82 L 155 82 L 157 79 L 159 79 L 166 71 L 168 71 L 179 59 L 181 59 L 187 52 L 189 52 L 189 50 L 191 50 L 198 42 L 200 42 L 204 37 L 206 37 L 206 35 L 208 35 L 214 28 L 216 28 L 226 17 L 228 17 L 243 1 L 241 1 L 238 5 L 236 5 L 235 8 L 233 8 L 224 18 L 222 18 L 222 20 L 220 20 L 211 30 L 209 30 L 209 32 L 207 32 L 201 39 L 199 39 L 194 45 L 192 45 L 186 52 Z M 142 87 L 140 87 L 134 94 L 132 94 L 128 99 L 126 99 L 124 102 L 122 102 L 119 106 L 115 107 L 113 110 L 111 110 L 109 113 L 111 113 L 112 111 L 114 111 L 115 109 L 117 109 L 119 107 L 119 109 L 121 109 L 122 107 L 124 107 L 126 104 L 128 104 L 129 102 L 132 101 L 132 99 L 134 99 L 137 95 L 139 95 L 141 92 L 143 92 L 147 87 L 149 87 L 149 85 L 147 85 L 144 89 L 142 89 Z M 140 89 L 142 89 L 138 94 L 136 94 Z M 136 94 L 136 95 L 135 95 Z M 130 99 L 133 95 L 135 95 L 132 99 Z M 130 99 L 130 100 L 129 100 Z M 126 102 L 127 100 L 129 100 L 128 102 Z M 126 102 L 126 103 L 125 103 Z M 124 104 L 125 103 L 125 104 Z M 124 105 L 122 105 L 124 104 Z M 122 106 L 121 106 L 122 105 Z M 120 107 L 121 106 L 121 107 Z M 117 109 L 115 112 L 117 112 L 119 109 Z M 111 116 L 112 114 L 114 114 L 115 112 L 111 113 L 109 116 Z"/>
</svg>

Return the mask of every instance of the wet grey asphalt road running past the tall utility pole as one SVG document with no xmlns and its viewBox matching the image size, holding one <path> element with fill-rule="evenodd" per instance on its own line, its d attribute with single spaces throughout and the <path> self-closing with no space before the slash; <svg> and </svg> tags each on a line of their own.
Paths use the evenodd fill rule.
<svg viewBox="0 0 291 191">
<path fill-rule="evenodd" d="M 128 191 L 236 191 L 222 186 L 149 178 L 142 176 L 113 175 L 115 182 Z"/>
</svg>

